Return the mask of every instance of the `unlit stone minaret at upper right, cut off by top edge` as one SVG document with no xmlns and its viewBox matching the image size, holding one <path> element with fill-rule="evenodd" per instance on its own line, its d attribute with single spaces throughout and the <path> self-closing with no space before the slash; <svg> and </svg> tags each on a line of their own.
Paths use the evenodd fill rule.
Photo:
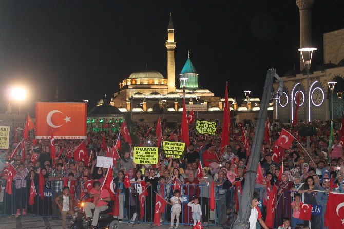
<svg viewBox="0 0 344 229">
<path fill-rule="evenodd" d="M 296 0 L 300 13 L 300 48 L 312 47 L 312 6 L 314 0 Z M 304 69 L 300 54 L 300 70 Z"/>
</svg>

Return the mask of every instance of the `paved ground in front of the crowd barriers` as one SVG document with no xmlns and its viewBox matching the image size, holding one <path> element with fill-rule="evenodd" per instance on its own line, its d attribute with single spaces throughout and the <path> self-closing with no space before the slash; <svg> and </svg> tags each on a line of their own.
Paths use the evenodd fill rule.
<svg viewBox="0 0 344 229">
<path fill-rule="evenodd" d="M 69 221 L 67 221 L 69 224 Z M 169 228 L 168 224 L 164 224 L 160 227 L 154 226 L 155 228 Z M 211 226 L 212 229 L 220 229 L 222 227 L 219 226 Z M 26 228 L 36 228 L 36 229 L 52 229 L 52 228 L 62 228 L 62 220 L 61 219 L 52 219 L 49 217 L 40 217 L 40 216 L 24 216 L 15 218 L 14 216 L 0 216 L 0 228 L 1 229 L 26 229 Z M 85 227 L 87 228 L 87 227 Z M 131 225 L 129 223 L 120 223 L 118 229 L 144 229 L 150 228 L 150 224 L 141 223 Z M 180 225 L 179 229 L 190 229 L 191 226 L 183 226 Z"/>
</svg>

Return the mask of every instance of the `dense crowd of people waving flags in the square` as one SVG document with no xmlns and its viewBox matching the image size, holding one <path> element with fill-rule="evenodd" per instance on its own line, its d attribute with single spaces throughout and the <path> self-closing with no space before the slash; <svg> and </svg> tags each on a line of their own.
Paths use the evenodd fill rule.
<svg viewBox="0 0 344 229">
<path fill-rule="evenodd" d="M 254 200 L 257 208 L 252 204 L 252 213 L 256 214 L 258 223 L 250 225 L 250 228 L 267 228 L 264 223 L 267 215 L 268 189 L 276 185 L 279 201 L 276 203 L 276 216 L 273 228 L 324 228 L 324 213 L 329 192 L 344 193 L 344 162 L 342 143 L 339 142 L 339 129 L 335 128 L 335 141 L 328 146 L 329 126 L 323 124 L 315 136 L 311 137 L 310 149 L 305 152 L 305 137 L 299 142 L 294 141 L 289 149 L 283 150 L 278 161 L 272 157 L 274 142 L 278 138 L 283 124 L 274 122 L 269 127 L 270 142 L 263 142 L 260 151 L 260 166 L 263 174 L 261 183 L 255 186 Z M 132 124 L 132 133 L 138 137 L 139 146 L 157 146 L 158 139 L 155 128 L 145 125 Z M 162 128 L 163 141 L 181 142 L 178 129 Z M 26 214 L 64 216 L 72 209 L 75 200 L 81 198 L 84 183 L 88 180 L 97 180 L 92 196 L 99 198 L 94 206 L 105 206 L 109 195 L 101 193 L 107 168 L 97 167 L 97 157 L 106 156 L 106 150 L 102 147 L 103 135 L 106 145 L 112 148 L 118 139 L 118 131 L 93 132 L 87 135 L 86 147 L 90 156 L 90 163 L 75 161 L 72 152 L 82 140 L 55 139 L 56 158 L 50 156 L 50 140 L 34 140 L 31 132 L 30 141 L 25 141 L 26 157 L 23 159 L 18 153 L 12 152 L 17 144 L 20 144 L 23 136 L 21 129 L 11 130 L 10 148 L 0 152 L 0 178 L 2 211 L 6 214 L 14 214 L 15 217 Z M 164 222 L 171 223 L 171 228 L 179 223 L 195 225 L 201 222 L 203 225 L 218 223 L 231 225 L 238 214 L 237 190 L 244 188 L 247 163 L 249 162 L 250 145 L 254 135 L 254 126 L 231 126 L 230 144 L 221 149 L 221 128 L 217 128 L 216 135 L 197 135 L 195 127 L 190 125 L 190 145 L 185 148 L 184 159 L 164 158 L 159 153 L 157 165 L 133 163 L 130 145 L 120 138 L 120 159 L 113 166 L 115 191 L 119 194 L 119 214 L 113 217 L 123 220 L 138 221 L 142 208 L 139 204 L 139 194 L 144 192 L 141 181 L 147 185 L 148 196 L 145 201 L 144 221 L 154 221 L 155 192 L 163 196 L 171 205 L 161 217 Z M 102 149 L 103 148 L 103 149 Z M 61 154 L 59 152 L 61 151 Z M 59 157 L 58 157 L 59 155 Z M 13 157 L 12 157 L 13 156 Z M 17 171 L 12 186 L 11 195 L 5 194 L 5 186 L 8 178 L 8 166 L 11 164 Z M 87 166 L 88 164 L 88 166 Z M 283 166 L 282 166 L 283 165 Z M 202 167 L 201 176 L 199 166 Z M 28 196 L 31 181 L 35 187 L 39 187 L 40 173 L 45 180 L 45 188 L 53 190 L 51 198 L 37 198 L 33 205 L 29 206 Z M 281 173 L 281 175 L 280 175 Z M 125 177 L 130 180 L 130 187 L 124 185 Z M 67 178 L 66 188 L 65 177 Z M 72 191 L 72 181 L 76 185 Z M 209 199 L 212 193 L 211 183 L 214 184 L 216 211 L 210 211 Z M 161 186 L 163 184 L 164 186 Z M 163 187 L 163 188 L 162 188 Z M 38 189 L 38 188 L 37 188 Z M 325 192 L 318 192 L 319 190 Z M 67 198 L 71 196 L 71 198 Z M 186 202 L 182 196 L 187 196 Z M 13 197 L 15 203 L 13 204 Z M 64 200 L 70 204 L 65 205 Z M 67 201 L 69 199 L 69 201 Z M 253 201 L 254 202 L 254 201 Z M 322 215 L 312 215 L 310 221 L 299 219 L 300 202 L 322 206 Z M 5 209 L 6 204 L 6 209 Z M 104 207 L 103 207 L 104 208 Z M 67 210 L 66 210 L 67 209 Z M 182 214 L 181 214 L 182 212 Z M 73 213 L 68 212 L 73 215 Z M 86 219 L 92 220 L 92 212 L 86 211 Z M 64 217 L 65 218 L 65 217 Z M 93 219 L 95 216 L 93 216 Z M 251 218 L 250 218 L 251 219 Z M 176 224 L 174 224 L 176 220 Z M 254 221 L 254 220 L 253 220 Z M 252 222 L 253 222 L 252 221 Z M 251 221 L 250 221 L 251 222 Z M 96 223 L 96 222 L 95 222 Z M 253 223 L 252 223 L 253 224 Z M 298 225 L 299 224 L 299 225 Z M 92 223 L 94 226 L 94 223 Z M 95 224 L 97 225 L 97 224 Z M 92 227 L 94 228 L 94 227 Z"/>
</svg>

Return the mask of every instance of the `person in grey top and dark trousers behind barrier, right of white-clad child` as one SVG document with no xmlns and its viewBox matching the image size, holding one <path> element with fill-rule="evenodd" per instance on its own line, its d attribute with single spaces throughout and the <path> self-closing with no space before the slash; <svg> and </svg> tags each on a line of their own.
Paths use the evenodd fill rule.
<svg viewBox="0 0 344 229">
<path fill-rule="evenodd" d="M 203 223 L 208 223 L 209 221 L 209 194 L 210 194 L 210 184 L 212 182 L 212 176 L 210 173 L 210 169 L 208 167 L 204 167 L 202 169 L 202 177 L 198 178 L 201 187 L 201 194 L 200 197 L 201 199 L 201 205 L 203 209 L 203 215 L 202 215 L 202 222 Z M 204 186 L 203 186 L 204 185 Z"/>
</svg>

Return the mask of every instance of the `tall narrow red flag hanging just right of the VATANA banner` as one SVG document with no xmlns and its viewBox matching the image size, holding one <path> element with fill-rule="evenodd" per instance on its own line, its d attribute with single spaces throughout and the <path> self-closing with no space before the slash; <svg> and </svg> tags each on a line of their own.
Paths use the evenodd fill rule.
<svg viewBox="0 0 344 229">
<path fill-rule="evenodd" d="M 221 133 L 221 148 L 220 154 L 222 154 L 224 147 L 230 144 L 230 105 L 228 103 L 228 82 L 226 83 L 226 90 L 224 92 L 224 107 L 223 107 L 223 123 Z"/>
</svg>

